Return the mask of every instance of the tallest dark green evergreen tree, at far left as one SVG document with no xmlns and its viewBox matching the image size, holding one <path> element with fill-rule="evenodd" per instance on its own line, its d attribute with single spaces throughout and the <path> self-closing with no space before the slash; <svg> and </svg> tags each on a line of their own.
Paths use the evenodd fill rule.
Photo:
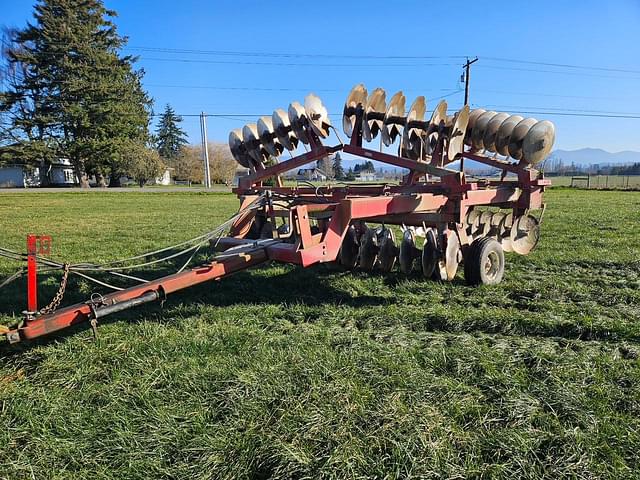
<svg viewBox="0 0 640 480">
<path fill-rule="evenodd" d="M 147 143 L 144 72 L 119 55 L 126 38 L 115 16 L 101 0 L 38 0 L 35 21 L 13 35 L 9 88 L 0 94 L 11 120 L 0 141 L 16 160 L 68 158 L 87 186 L 87 174 L 119 176 L 128 141 Z"/>
</svg>

